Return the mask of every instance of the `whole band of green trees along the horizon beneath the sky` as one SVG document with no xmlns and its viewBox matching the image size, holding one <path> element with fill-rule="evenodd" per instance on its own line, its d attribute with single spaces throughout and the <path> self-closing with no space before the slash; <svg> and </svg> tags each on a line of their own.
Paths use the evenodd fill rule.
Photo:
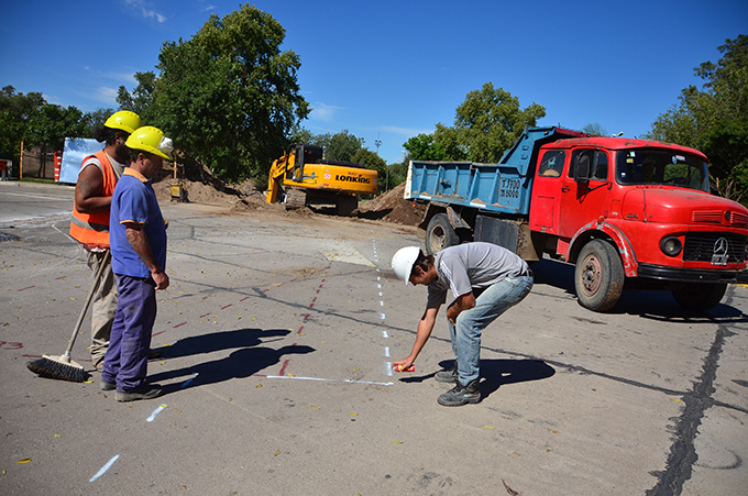
<svg viewBox="0 0 748 496">
<path fill-rule="evenodd" d="M 135 73 L 133 91 L 121 86 L 118 110 L 131 110 L 144 123 L 169 135 L 177 147 L 228 183 L 265 181 L 274 159 L 292 143 L 318 144 L 329 159 L 358 162 L 376 169 L 383 189 L 405 179 L 407 161 L 498 162 L 527 125 L 546 117 L 546 108 L 519 100 L 486 82 L 470 91 L 455 109 L 453 125 L 437 123 L 429 134 L 410 137 L 403 163 L 387 165 L 343 130 L 314 134 L 301 126 L 311 108 L 300 93 L 300 57 L 280 51 L 284 27 L 270 14 L 244 4 L 222 18 L 211 14 L 189 40 L 165 42 L 155 71 Z M 701 88 L 682 90 L 647 139 L 691 146 L 712 161 L 713 189 L 744 198 L 748 188 L 748 36 L 727 40 L 722 58 L 705 62 L 695 74 Z M 0 93 L 0 154 L 18 159 L 20 142 L 62 147 L 65 136 L 90 137 L 113 109 L 82 113 L 47 103 L 41 93 Z M 585 132 L 604 133 L 598 124 Z"/>
</svg>

